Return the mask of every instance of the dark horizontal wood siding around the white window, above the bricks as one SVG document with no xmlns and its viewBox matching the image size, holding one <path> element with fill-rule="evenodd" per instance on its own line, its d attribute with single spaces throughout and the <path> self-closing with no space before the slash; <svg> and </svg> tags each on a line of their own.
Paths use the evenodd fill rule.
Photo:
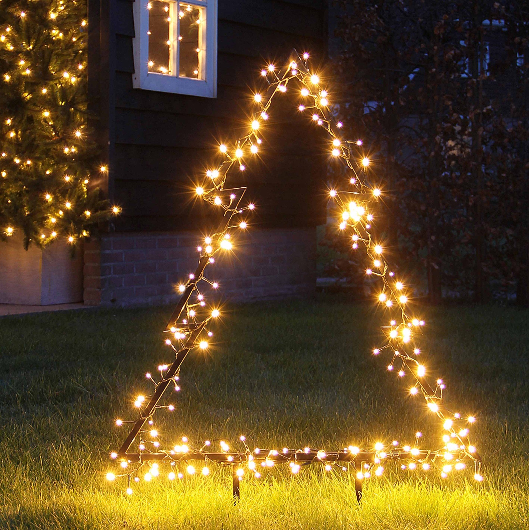
<svg viewBox="0 0 529 530">
<path fill-rule="evenodd" d="M 200 213 L 202 221 L 204 216 L 202 208 L 193 206 L 191 183 L 214 160 L 219 140 L 229 143 L 244 122 L 248 125 L 250 93 L 262 83 L 261 67 L 268 60 L 281 63 L 292 48 L 310 50 L 318 61 L 325 57 L 326 3 L 219 0 L 216 99 L 133 89 L 133 3 L 110 3 L 115 74 L 109 96 L 113 134 L 108 189 L 111 200 L 123 208 L 116 229 L 192 228 L 197 219 L 191 211 Z M 285 96 L 276 103 L 263 130 L 259 158 L 248 160 L 248 170 L 230 184 L 248 186 L 259 225 L 313 226 L 325 218 L 320 131 L 297 116 L 295 98 Z"/>
</svg>

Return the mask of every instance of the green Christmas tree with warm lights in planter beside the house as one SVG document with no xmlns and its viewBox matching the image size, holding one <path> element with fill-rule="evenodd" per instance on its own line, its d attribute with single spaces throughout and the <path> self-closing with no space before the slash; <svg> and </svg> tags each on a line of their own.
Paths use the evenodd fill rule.
<svg viewBox="0 0 529 530">
<path fill-rule="evenodd" d="M 0 237 L 75 244 L 111 209 L 91 173 L 106 171 L 87 126 L 83 0 L 0 3 Z"/>
</svg>

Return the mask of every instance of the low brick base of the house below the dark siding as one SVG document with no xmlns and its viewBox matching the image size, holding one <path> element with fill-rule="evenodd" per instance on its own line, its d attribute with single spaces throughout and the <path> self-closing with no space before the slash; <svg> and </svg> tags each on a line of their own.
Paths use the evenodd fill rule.
<svg viewBox="0 0 529 530">
<path fill-rule="evenodd" d="M 315 228 L 238 233 L 235 252 L 219 255 L 206 276 L 235 301 L 307 295 L 316 286 Z M 167 304 L 193 272 L 201 244 L 192 232 L 105 234 L 85 245 L 87 305 Z"/>
</svg>

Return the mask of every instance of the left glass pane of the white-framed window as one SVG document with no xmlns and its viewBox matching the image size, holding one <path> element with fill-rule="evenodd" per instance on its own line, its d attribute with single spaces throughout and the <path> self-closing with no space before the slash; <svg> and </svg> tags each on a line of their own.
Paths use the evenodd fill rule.
<svg viewBox="0 0 529 530">
<path fill-rule="evenodd" d="M 169 3 L 149 3 L 149 72 L 171 73 L 169 70 Z"/>
</svg>

